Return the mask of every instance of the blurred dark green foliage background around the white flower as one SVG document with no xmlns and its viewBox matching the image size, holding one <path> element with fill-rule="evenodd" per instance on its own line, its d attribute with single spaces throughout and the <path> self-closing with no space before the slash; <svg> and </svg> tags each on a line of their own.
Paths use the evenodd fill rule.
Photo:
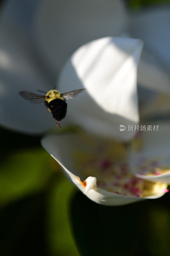
<svg viewBox="0 0 170 256">
<path fill-rule="evenodd" d="M 129 0 L 131 9 L 169 1 Z M 0 255 L 170 255 L 170 195 L 119 207 L 65 179 L 40 137 L 0 129 Z"/>
</svg>

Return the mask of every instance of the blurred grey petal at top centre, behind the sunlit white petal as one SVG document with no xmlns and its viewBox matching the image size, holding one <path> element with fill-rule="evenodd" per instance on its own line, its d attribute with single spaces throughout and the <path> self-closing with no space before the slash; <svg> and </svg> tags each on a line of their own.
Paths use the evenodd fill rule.
<svg viewBox="0 0 170 256">
<path fill-rule="evenodd" d="M 122 0 L 44 0 L 36 15 L 35 36 L 40 54 L 56 74 L 82 44 L 118 35 L 127 23 Z"/>
</svg>

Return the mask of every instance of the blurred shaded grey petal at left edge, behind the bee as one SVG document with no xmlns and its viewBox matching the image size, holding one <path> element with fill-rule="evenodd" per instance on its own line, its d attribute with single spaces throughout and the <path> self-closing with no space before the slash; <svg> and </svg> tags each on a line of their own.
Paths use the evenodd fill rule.
<svg viewBox="0 0 170 256">
<path fill-rule="evenodd" d="M 18 92 L 50 90 L 50 82 L 39 71 L 34 52 L 22 34 L 0 29 L 0 124 L 21 132 L 41 133 L 55 125 L 42 104 L 31 104 Z"/>
</svg>

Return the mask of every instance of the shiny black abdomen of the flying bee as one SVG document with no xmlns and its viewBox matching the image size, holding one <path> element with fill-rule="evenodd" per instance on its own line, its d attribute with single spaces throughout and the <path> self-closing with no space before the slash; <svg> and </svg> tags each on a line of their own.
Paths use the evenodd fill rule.
<svg viewBox="0 0 170 256">
<path fill-rule="evenodd" d="M 53 118 L 61 121 L 67 112 L 67 103 L 61 99 L 51 100 L 49 103 L 45 101 L 45 106 L 50 109 Z"/>
</svg>

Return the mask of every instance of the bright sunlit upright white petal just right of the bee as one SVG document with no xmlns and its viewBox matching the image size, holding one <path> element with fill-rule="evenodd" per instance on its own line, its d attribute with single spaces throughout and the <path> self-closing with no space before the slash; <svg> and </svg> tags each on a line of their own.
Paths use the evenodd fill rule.
<svg viewBox="0 0 170 256">
<path fill-rule="evenodd" d="M 139 39 L 104 37 L 81 46 L 59 77 L 60 92 L 86 88 L 68 101 L 67 121 L 85 130 L 130 140 L 121 124 L 138 123 L 137 66 L 142 51 Z"/>
</svg>

